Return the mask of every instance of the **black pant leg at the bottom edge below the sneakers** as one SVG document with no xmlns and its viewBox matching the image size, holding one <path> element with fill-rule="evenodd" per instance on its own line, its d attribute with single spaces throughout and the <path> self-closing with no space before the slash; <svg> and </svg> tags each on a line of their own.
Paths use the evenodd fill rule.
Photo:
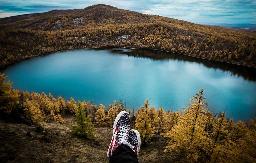
<svg viewBox="0 0 256 163">
<path fill-rule="evenodd" d="M 135 152 L 127 145 L 119 145 L 109 159 L 110 163 L 138 163 Z"/>
</svg>

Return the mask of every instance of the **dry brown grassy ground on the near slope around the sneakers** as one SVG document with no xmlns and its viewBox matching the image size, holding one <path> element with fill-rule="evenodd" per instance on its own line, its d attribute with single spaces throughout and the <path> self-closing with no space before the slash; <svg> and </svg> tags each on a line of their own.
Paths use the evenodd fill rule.
<svg viewBox="0 0 256 163">
<path fill-rule="evenodd" d="M 0 121 L 0 162 L 109 162 L 106 152 L 112 137 L 110 127 L 96 130 L 96 140 L 87 140 L 73 135 L 66 124 L 46 123 L 44 130 L 26 124 Z M 27 132 L 30 132 L 29 136 Z M 141 147 L 138 160 L 143 162 L 174 162 L 169 153 L 164 153 L 166 140 L 163 136 Z"/>
</svg>

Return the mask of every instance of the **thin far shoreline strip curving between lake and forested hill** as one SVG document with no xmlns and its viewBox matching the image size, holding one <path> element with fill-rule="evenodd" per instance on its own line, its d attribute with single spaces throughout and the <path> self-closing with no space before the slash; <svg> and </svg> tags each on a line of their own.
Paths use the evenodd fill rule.
<svg viewBox="0 0 256 163">
<path fill-rule="evenodd" d="M 241 64 L 231 63 L 231 62 L 225 62 L 225 61 L 212 60 L 212 59 L 208 59 L 208 58 L 201 58 L 201 57 L 197 57 L 197 56 L 192 56 L 192 55 L 182 54 L 182 53 L 177 53 L 177 52 L 171 52 L 171 51 L 166 51 L 166 50 L 145 49 L 145 48 L 128 48 L 128 47 L 122 47 L 122 46 L 97 46 L 97 47 L 87 47 L 87 48 L 63 49 L 63 50 L 53 51 L 53 52 L 50 52 L 50 53 L 44 53 L 44 54 L 41 54 L 41 55 L 38 55 L 38 56 L 33 56 L 33 57 L 31 57 L 31 58 L 39 57 L 39 56 L 43 56 L 43 55 L 48 55 L 48 54 L 51 54 L 51 53 L 66 51 L 66 50 L 97 49 L 97 48 L 124 48 L 124 49 L 135 49 L 135 50 L 155 50 L 155 51 L 162 51 L 162 52 L 168 52 L 168 53 L 175 53 L 175 54 L 186 55 L 186 56 L 195 57 L 195 58 L 198 58 L 198 59 L 203 59 L 203 60 L 208 60 L 208 61 L 217 61 L 217 62 L 222 62 L 222 63 L 234 64 L 234 65 L 238 65 L 238 66 L 245 66 L 245 67 L 250 67 L 250 68 L 256 68 L 256 67 L 253 67 L 253 66 L 241 65 Z M 28 59 L 31 59 L 31 58 L 22 59 L 22 60 L 20 60 L 20 61 L 25 61 L 25 60 L 28 60 Z M 20 61 L 17 61 L 17 62 L 20 62 Z M 11 64 L 9 64 L 9 65 L 0 67 L 0 71 L 3 70 L 3 69 L 5 69 L 6 67 L 8 67 L 8 66 L 10 66 L 10 65 L 13 65 L 13 64 L 17 63 L 17 62 L 14 62 L 14 63 L 11 63 Z"/>
</svg>

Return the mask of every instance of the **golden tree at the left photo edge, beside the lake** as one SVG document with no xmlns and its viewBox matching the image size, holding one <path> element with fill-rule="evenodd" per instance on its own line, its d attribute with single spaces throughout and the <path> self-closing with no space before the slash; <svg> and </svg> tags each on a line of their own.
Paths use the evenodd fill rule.
<svg viewBox="0 0 256 163">
<path fill-rule="evenodd" d="M 12 89 L 10 80 L 5 82 L 7 76 L 0 73 L 0 110 L 10 113 L 12 109 L 19 103 L 18 91 Z"/>
</svg>

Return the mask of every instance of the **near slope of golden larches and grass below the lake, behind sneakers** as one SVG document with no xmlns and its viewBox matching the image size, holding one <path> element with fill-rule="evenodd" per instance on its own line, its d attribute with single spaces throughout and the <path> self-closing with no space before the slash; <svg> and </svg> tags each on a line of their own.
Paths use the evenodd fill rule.
<svg viewBox="0 0 256 163">
<path fill-rule="evenodd" d="M 17 91 L 5 79 L 4 74 L 0 74 L 1 119 L 37 126 L 37 132 L 30 127 L 26 129 L 27 133 L 20 133 L 20 129 L 15 131 L 13 128 L 17 125 L 12 128 L 5 124 L 6 127 L 0 128 L 0 137 L 4 140 L 0 144 L 0 159 L 7 162 L 42 158 L 46 160 L 39 162 L 69 162 L 67 158 L 77 158 L 78 162 L 90 162 L 92 158 L 97 162 L 108 162 L 106 151 L 112 135 L 108 127 L 113 126 L 121 111 L 130 114 L 131 128 L 140 132 L 142 146 L 138 159 L 141 162 L 256 162 L 256 120 L 234 123 L 232 118 L 225 117 L 225 110 L 212 114 L 207 109 L 204 89 L 190 99 L 188 108 L 182 108 L 182 112 L 166 112 L 162 107 L 150 106 L 148 100 L 141 108 L 131 110 L 125 107 L 123 101 L 114 100 L 105 107 L 102 104 L 93 105 L 90 101 L 75 101 L 72 97 L 63 99 L 61 96 L 54 98 L 50 93 L 47 96 L 44 92 Z M 63 119 L 73 116 L 75 123 L 72 119 Z M 51 132 L 42 131 L 41 126 Z M 32 136 L 28 131 L 32 132 Z M 24 138 L 25 134 L 32 138 Z M 13 135 L 19 137 L 15 137 L 14 142 L 27 142 L 26 150 L 21 150 L 16 143 L 10 143 L 9 136 Z M 42 144 L 42 141 L 48 145 Z M 52 145 L 49 144 L 51 142 Z M 44 150 L 39 152 L 41 146 L 44 146 Z M 59 153 L 60 150 L 63 152 Z M 33 157 L 28 157 L 31 152 Z"/>
</svg>

